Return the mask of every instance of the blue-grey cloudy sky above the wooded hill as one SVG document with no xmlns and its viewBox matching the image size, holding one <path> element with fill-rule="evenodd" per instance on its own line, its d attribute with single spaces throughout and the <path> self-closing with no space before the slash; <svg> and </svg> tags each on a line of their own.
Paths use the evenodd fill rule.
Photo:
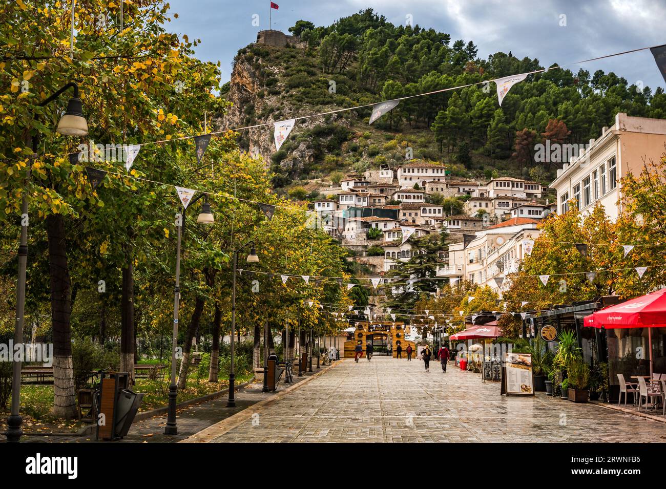
<svg viewBox="0 0 666 489">
<path fill-rule="evenodd" d="M 573 63 L 611 53 L 666 43 L 665 0 L 274 0 L 272 27 L 287 33 L 298 19 L 330 25 L 372 7 L 398 25 L 411 15 L 414 25 L 451 35 L 452 41 L 474 41 L 481 57 L 503 51 L 537 58 L 541 65 Z M 241 47 L 268 28 L 269 0 L 170 0 L 178 13 L 168 29 L 201 39 L 196 54 L 220 61 L 228 81 L 232 60 Z M 408 5 L 406 7 L 405 5 Z M 259 26 L 252 25 L 258 15 Z M 566 25 L 560 25 L 565 23 Z M 590 73 L 613 71 L 630 83 L 664 86 L 649 51 L 581 65 Z M 571 69 L 575 72 L 578 67 Z"/>
</svg>

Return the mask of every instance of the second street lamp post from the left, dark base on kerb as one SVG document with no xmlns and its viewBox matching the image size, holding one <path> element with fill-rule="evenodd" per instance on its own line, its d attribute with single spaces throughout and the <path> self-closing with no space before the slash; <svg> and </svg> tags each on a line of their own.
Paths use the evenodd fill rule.
<svg viewBox="0 0 666 489">
<path fill-rule="evenodd" d="M 190 201 L 189 205 L 194 204 L 197 200 L 206 194 L 198 194 Z M 178 240 L 176 241 L 176 286 L 173 292 L 173 333 L 171 338 L 171 384 L 168 387 L 168 412 L 166 414 L 165 434 L 178 434 L 178 425 L 176 424 L 176 399 L 178 398 L 178 385 L 176 384 L 176 348 L 178 347 L 178 309 L 180 308 L 180 243 L 182 239 L 182 227 L 185 224 L 185 212 L 187 208 L 183 208 L 182 213 L 177 215 L 176 224 L 178 225 Z M 214 218 L 210 212 L 210 204 L 208 198 L 202 206 L 201 213 L 196 218 L 196 222 L 200 224 L 212 224 Z"/>
</svg>

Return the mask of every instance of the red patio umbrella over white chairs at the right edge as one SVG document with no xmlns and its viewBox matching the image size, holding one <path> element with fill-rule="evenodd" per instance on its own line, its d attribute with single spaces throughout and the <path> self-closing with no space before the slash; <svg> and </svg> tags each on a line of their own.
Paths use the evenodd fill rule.
<svg viewBox="0 0 666 489">
<path fill-rule="evenodd" d="M 621 304 L 609 305 L 583 319 L 595 328 L 647 328 L 652 377 L 652 328 L 666 327 L 666 288 L 636 297 Z"/>
</svg>

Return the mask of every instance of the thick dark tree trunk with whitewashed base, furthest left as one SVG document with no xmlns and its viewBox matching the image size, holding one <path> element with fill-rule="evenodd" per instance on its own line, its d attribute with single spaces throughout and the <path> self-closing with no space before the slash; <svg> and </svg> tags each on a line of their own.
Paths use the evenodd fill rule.
<svg viewBox="0 0 666 489">
<path fill-rule="evenodd" d="M 53 323 L 53 415 L 72 418 L 77 414 L 77 407 L 69 321 L 71 282 L 65 246 L 65 218 L 62 214 L 50 214 L 46 218 L 46 226 L 49 240 L 51 321 Z"/>
</svg>

